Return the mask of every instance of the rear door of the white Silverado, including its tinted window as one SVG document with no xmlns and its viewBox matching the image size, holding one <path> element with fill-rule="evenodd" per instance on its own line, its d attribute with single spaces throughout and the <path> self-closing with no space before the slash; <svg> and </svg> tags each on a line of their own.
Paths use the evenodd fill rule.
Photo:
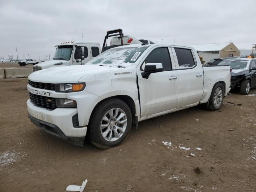
<svg viewBox="0 0 256 192">
<path fill-rule="evenodd" d="M 203 95 L 204 72 L 196 62 L 193 50 L 172 48 L 178 69 L 178 108 L 200 101 Z"/>
</svg>

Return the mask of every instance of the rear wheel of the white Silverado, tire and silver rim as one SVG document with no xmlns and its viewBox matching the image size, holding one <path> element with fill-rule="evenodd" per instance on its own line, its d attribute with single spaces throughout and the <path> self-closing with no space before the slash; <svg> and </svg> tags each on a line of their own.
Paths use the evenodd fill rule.
<svg viewBox="0 0 256 192">
<path fill-rule="evenodd" d="M 210 96 L 208 109 L 216 111 L 222 106 L 224 99 L 224 86 L 221 83 L 217 83 L 213 89 Z"/>
</svg>

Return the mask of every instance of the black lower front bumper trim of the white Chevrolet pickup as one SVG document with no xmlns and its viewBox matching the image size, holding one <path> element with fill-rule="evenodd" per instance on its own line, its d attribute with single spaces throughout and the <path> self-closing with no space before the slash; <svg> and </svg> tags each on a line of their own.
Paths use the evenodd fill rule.
<svg viewBox="0 0 256 192">
<path fill-rule="evenodd" d="M 42 121 L 40 119 L 32 117 L 30 114 L 28 114 L 30 121 L 34 123 L 36 126 L 42 128 L 45 132 L 60 138 L 62 140 L 67 140 L 70 144 L 76 145 L 76 146 L 83 146 L 84 145 L 84 136 L 83 137 L 68 137 L 66 136 L 60 128 L 54 124 Z"/>
</svg>

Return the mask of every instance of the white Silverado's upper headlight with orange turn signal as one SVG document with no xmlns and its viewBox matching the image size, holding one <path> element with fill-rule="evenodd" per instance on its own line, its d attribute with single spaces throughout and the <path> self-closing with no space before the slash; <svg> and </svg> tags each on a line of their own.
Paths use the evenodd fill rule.
<svg viewBox="0 0 256 192">
<path fill-rule="evenodd" d="M 55 91 L 63 93 L 82 91 L 84 88 L 85 83 L 55 84 Z"/>
</svg>

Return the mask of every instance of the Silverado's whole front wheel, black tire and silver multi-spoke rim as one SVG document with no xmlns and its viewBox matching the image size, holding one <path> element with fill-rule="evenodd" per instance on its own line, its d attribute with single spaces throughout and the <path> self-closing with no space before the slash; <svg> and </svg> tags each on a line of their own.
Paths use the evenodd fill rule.
<svg viewBox="0 0 256 192">
<path fill-rule="evenodd" d="M 89 140 L 102 149 L 118 146 L 132 127 L 132 113 L 122 100 L 112 98 L 98 104 L 89 122 Z"/>
</svg>

